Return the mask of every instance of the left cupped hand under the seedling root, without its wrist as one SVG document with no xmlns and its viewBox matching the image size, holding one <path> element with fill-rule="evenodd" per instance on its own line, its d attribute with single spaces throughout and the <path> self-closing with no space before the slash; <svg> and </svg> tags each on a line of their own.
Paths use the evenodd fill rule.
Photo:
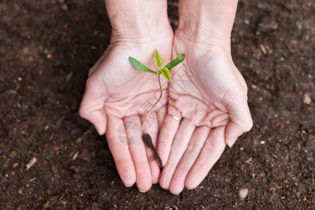
<svg viewBox="0 0 315 210">
<path fill-rule="evenodd" d="M 171 32 L 172 33 L 172 32 Z M 151 160 L 141 139 L 141 117 L 160 94 L 158 76 L 139 71 L 130 64 L 129 57 L 138 59 L 156 70 L 153 57 L 157 48 L 169 62 L 172 56 L 173 35 L 147 42 L 118 41 L 111 43 L 104 55 L 90 69 L 85 94 L 80 104 L 80 115 L 96 127 L 106 139 L 125 186 L 135 182 L 139 190 L 149 190 L 158 183 L 160 168 Z M 163 86 L 164 92 L 167 85 Z M 158 138 L 159 125 L 165 115 L 166 97 L 148 118 L 145 130 L 153 144 Z"/>
</svg>

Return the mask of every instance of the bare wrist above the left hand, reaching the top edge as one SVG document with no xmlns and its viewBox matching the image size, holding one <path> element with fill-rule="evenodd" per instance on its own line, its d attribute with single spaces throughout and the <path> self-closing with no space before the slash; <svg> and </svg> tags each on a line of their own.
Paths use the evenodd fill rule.
<svg viewBox="0 0 315 210">
<path fill-rule="evenodd" d="M 172 31 L 165 0 L 106 0 L 105 3 L 112 27 L 111 43 L 153 41 Z"/>
</svg>

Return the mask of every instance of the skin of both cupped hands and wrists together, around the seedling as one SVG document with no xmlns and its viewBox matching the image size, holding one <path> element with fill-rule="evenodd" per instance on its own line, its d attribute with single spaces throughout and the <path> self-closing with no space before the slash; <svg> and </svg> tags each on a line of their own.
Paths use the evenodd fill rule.
<svg viewBox="0 0 315 210">
<path fill-rule="evenodd" d="M 106 132 L 126 186 L 137 183 L 139 190 L 146 191 L 160 181 L 162 188 L 174 194 L 184 186 L 195 188 L 225 145 L 232 146 L 252 126 L 246 83 L 230 52 L 237 1 L 179 1 L 180 20 L 174 40 L 167 1 L 105 3 L 113 27 L 111 44 L 90 69 L 80 115 L 90 120 L 99 134 Z M 128 57 L 154 69 L 155 48 L 165 63 L 186 54 L 183 65 L 172 69 L 172 73 L 179 71 L 168 88 L 169 115 L 165 116 L 163 106 L 167 98 L 162 97 L 153 113 L 158 123 L 146 127 L 153 144 L 158 139 L 158 153 L 165 165 L 162 174 L 143 141 L 131 142 L 129 130 L 125 130 L 129 145 L 118 139 L 120 125 L 127 126 L 127 121 L 141 125 L 145 113 L 139 112 L 140 107 L 147 99 L 154 104 L 158 92 L 158 78 L 134 69 Z M 183 118 L 181 124 L 172 116 Z"/>
</svg>

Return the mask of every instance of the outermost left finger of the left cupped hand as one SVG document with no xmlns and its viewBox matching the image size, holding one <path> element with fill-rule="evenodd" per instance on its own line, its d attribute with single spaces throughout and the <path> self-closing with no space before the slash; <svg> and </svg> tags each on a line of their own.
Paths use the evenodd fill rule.
<svg viewBox="0 0 315 210">
<path fill-rule="evenodd" d="M 109 149 L 113 155 L 120 179 L 125 186 L 132 186 L 136 182 L 136 171 L 128 144 L 126 144 L 127 135 L 123 120 L 115 116 L 108 116 L 108 118 L 109 123 L 107 125 L 106 139 Z"/>
</svg>

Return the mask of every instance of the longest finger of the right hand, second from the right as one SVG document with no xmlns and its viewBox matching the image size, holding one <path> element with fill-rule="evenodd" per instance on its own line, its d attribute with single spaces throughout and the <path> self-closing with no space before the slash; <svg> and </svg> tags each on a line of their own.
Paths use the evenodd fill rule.
<svg viewBox="0 0 315 210">
<path fill-rule="evenodd" d="M 175 195 L 181 193 L 185 186 L 185 179 L 193 166 L 195 160 L 197 160 L 204 142 L 206 141 L 210 132 L 210 128 L 207 126 L 197 127 L 193 133 L 193 137 L 188 144 L 188 147 L 179 162 L 179 165 L 176 167 L 176 171 L 172 177 L 172 181 L 169 184 L 169 191 Z"/>
</svg>

